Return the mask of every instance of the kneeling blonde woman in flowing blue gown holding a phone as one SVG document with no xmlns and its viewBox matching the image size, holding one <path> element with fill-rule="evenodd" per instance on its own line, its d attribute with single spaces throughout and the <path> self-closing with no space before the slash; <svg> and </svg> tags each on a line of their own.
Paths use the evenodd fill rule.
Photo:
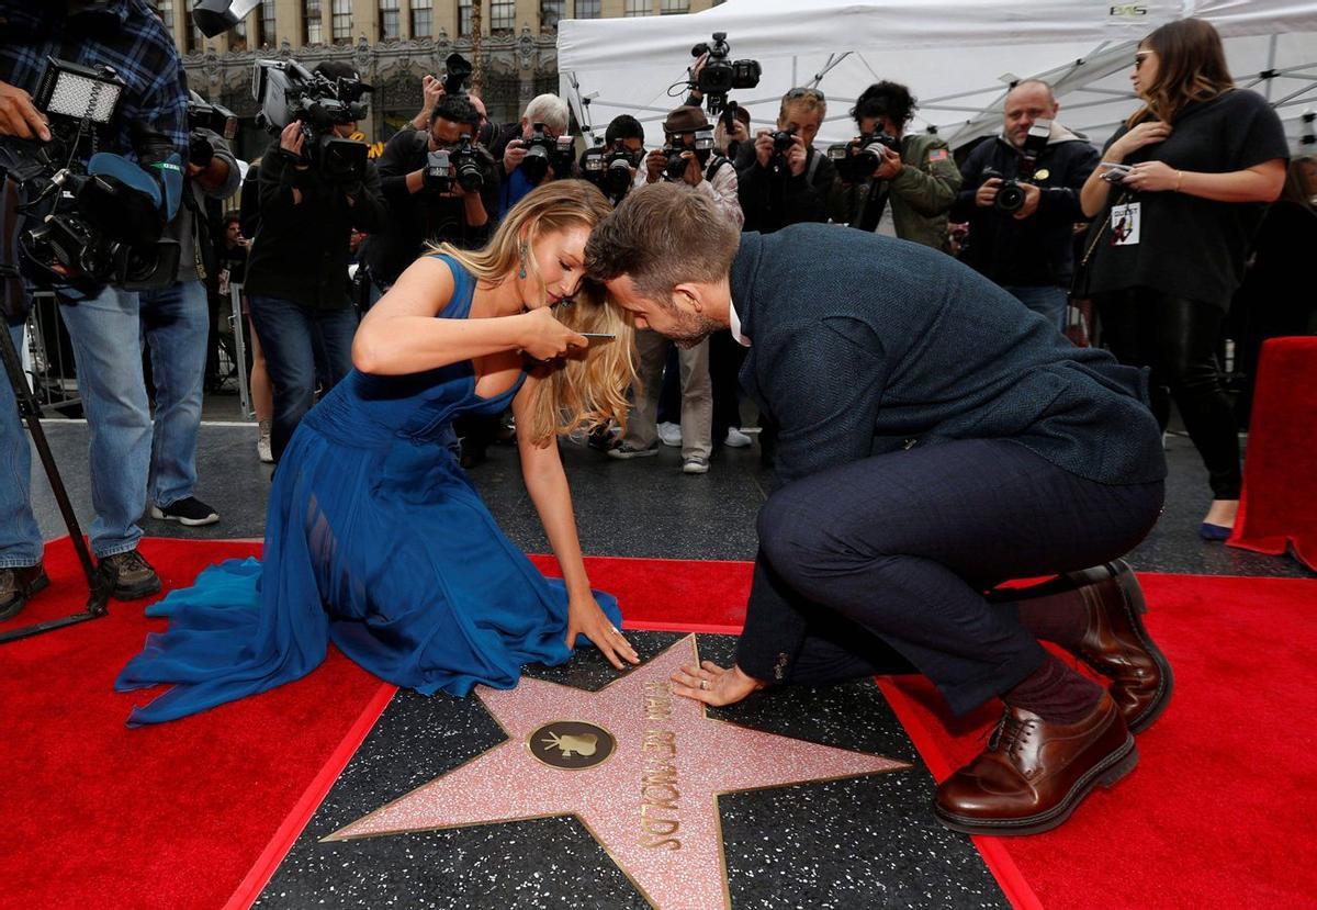
<svg viewBox="0 0 1317 910">
<path fill-rule="evenodd" d="M 129 724 L 296 680 L 329 641 L 425 694 L 512 687 L 524 664 L 561 664 L 586 640 L 619 669 L 637 662 L 616 602 L 590 589 L 556 445 L 627 411 L 631 323 L 581 282 L 590 228 L 608 211 L 593 186 L 557 180 L 483 250 L 445 248 L 399 278 L 362 320 L 356 369 L 279 461 L 262 561 L 211 566 L 148 610 L 169 629 L 148 636 L 115 686 L 173 687 Z M 562 581 L 499 531 L 457 461 L 453 419 L 508 402 Z"/>
</svg>

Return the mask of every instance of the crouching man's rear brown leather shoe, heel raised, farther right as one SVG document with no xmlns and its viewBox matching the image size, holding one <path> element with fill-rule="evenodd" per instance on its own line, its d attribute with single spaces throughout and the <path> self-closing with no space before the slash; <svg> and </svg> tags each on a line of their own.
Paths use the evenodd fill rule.
<svg viewBox="0 0 1317 910">
<path fill-rule="evenodd" d="M 1147 604 L 1125 560 L 1067 575 L 1084 599 L 1088 628 L 1076 657 L 1112 681 L 1112 698 L 1131 734 L 1152 726 L 1167 705 L 1175 676 L 1143 627 Z"/>
</svg>

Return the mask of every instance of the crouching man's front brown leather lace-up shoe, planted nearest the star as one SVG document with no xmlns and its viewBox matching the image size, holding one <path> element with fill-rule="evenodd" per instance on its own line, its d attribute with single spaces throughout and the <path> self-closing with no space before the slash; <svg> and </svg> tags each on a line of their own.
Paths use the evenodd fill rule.
<svg viewBox="0 0 1317 910">
<path fill-rule="evenodd" d="M 1008 707 L 988 748 L 938 788 L 934 811 L 952 831 L 1038 834 L 1068 819 L 1094 786 L 1112 786 L 1138 761 L 1134 736 L 1110 695 L 1072 724 Z"/>
</svg>

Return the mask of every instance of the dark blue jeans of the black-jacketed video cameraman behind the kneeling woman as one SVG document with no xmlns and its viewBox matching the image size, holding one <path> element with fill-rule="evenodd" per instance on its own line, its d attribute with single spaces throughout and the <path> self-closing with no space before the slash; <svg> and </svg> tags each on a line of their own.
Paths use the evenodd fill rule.
<svg viewBox="0 0 1317 910">
<path fill-rule="evenodd" d="M 270 448 L 283 454 L 292 431 L 311 410 L 316 394 L 316 367 L 325 388 L 352 369 L 352 337 L 357 312 L 352 307 L 320 309 L 283 298 L 252 298 L 252 323 L 261 336 L 265 367 L 274 385 Z"/>
</svg>

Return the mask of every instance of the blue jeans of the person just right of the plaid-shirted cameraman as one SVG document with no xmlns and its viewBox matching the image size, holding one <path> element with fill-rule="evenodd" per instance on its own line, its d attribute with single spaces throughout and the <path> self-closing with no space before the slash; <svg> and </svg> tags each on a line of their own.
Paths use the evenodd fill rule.
<svg viewBox="0 0 1317 910">
<path fill-rule="evenodd" d="M 196 486 L 209 309 L 199 281 L 140 296 L 142 341 L 150 348 L 155 383 L 149 493 L 153 503 L 165 507 L 187 499 Z"/>
</svg>

